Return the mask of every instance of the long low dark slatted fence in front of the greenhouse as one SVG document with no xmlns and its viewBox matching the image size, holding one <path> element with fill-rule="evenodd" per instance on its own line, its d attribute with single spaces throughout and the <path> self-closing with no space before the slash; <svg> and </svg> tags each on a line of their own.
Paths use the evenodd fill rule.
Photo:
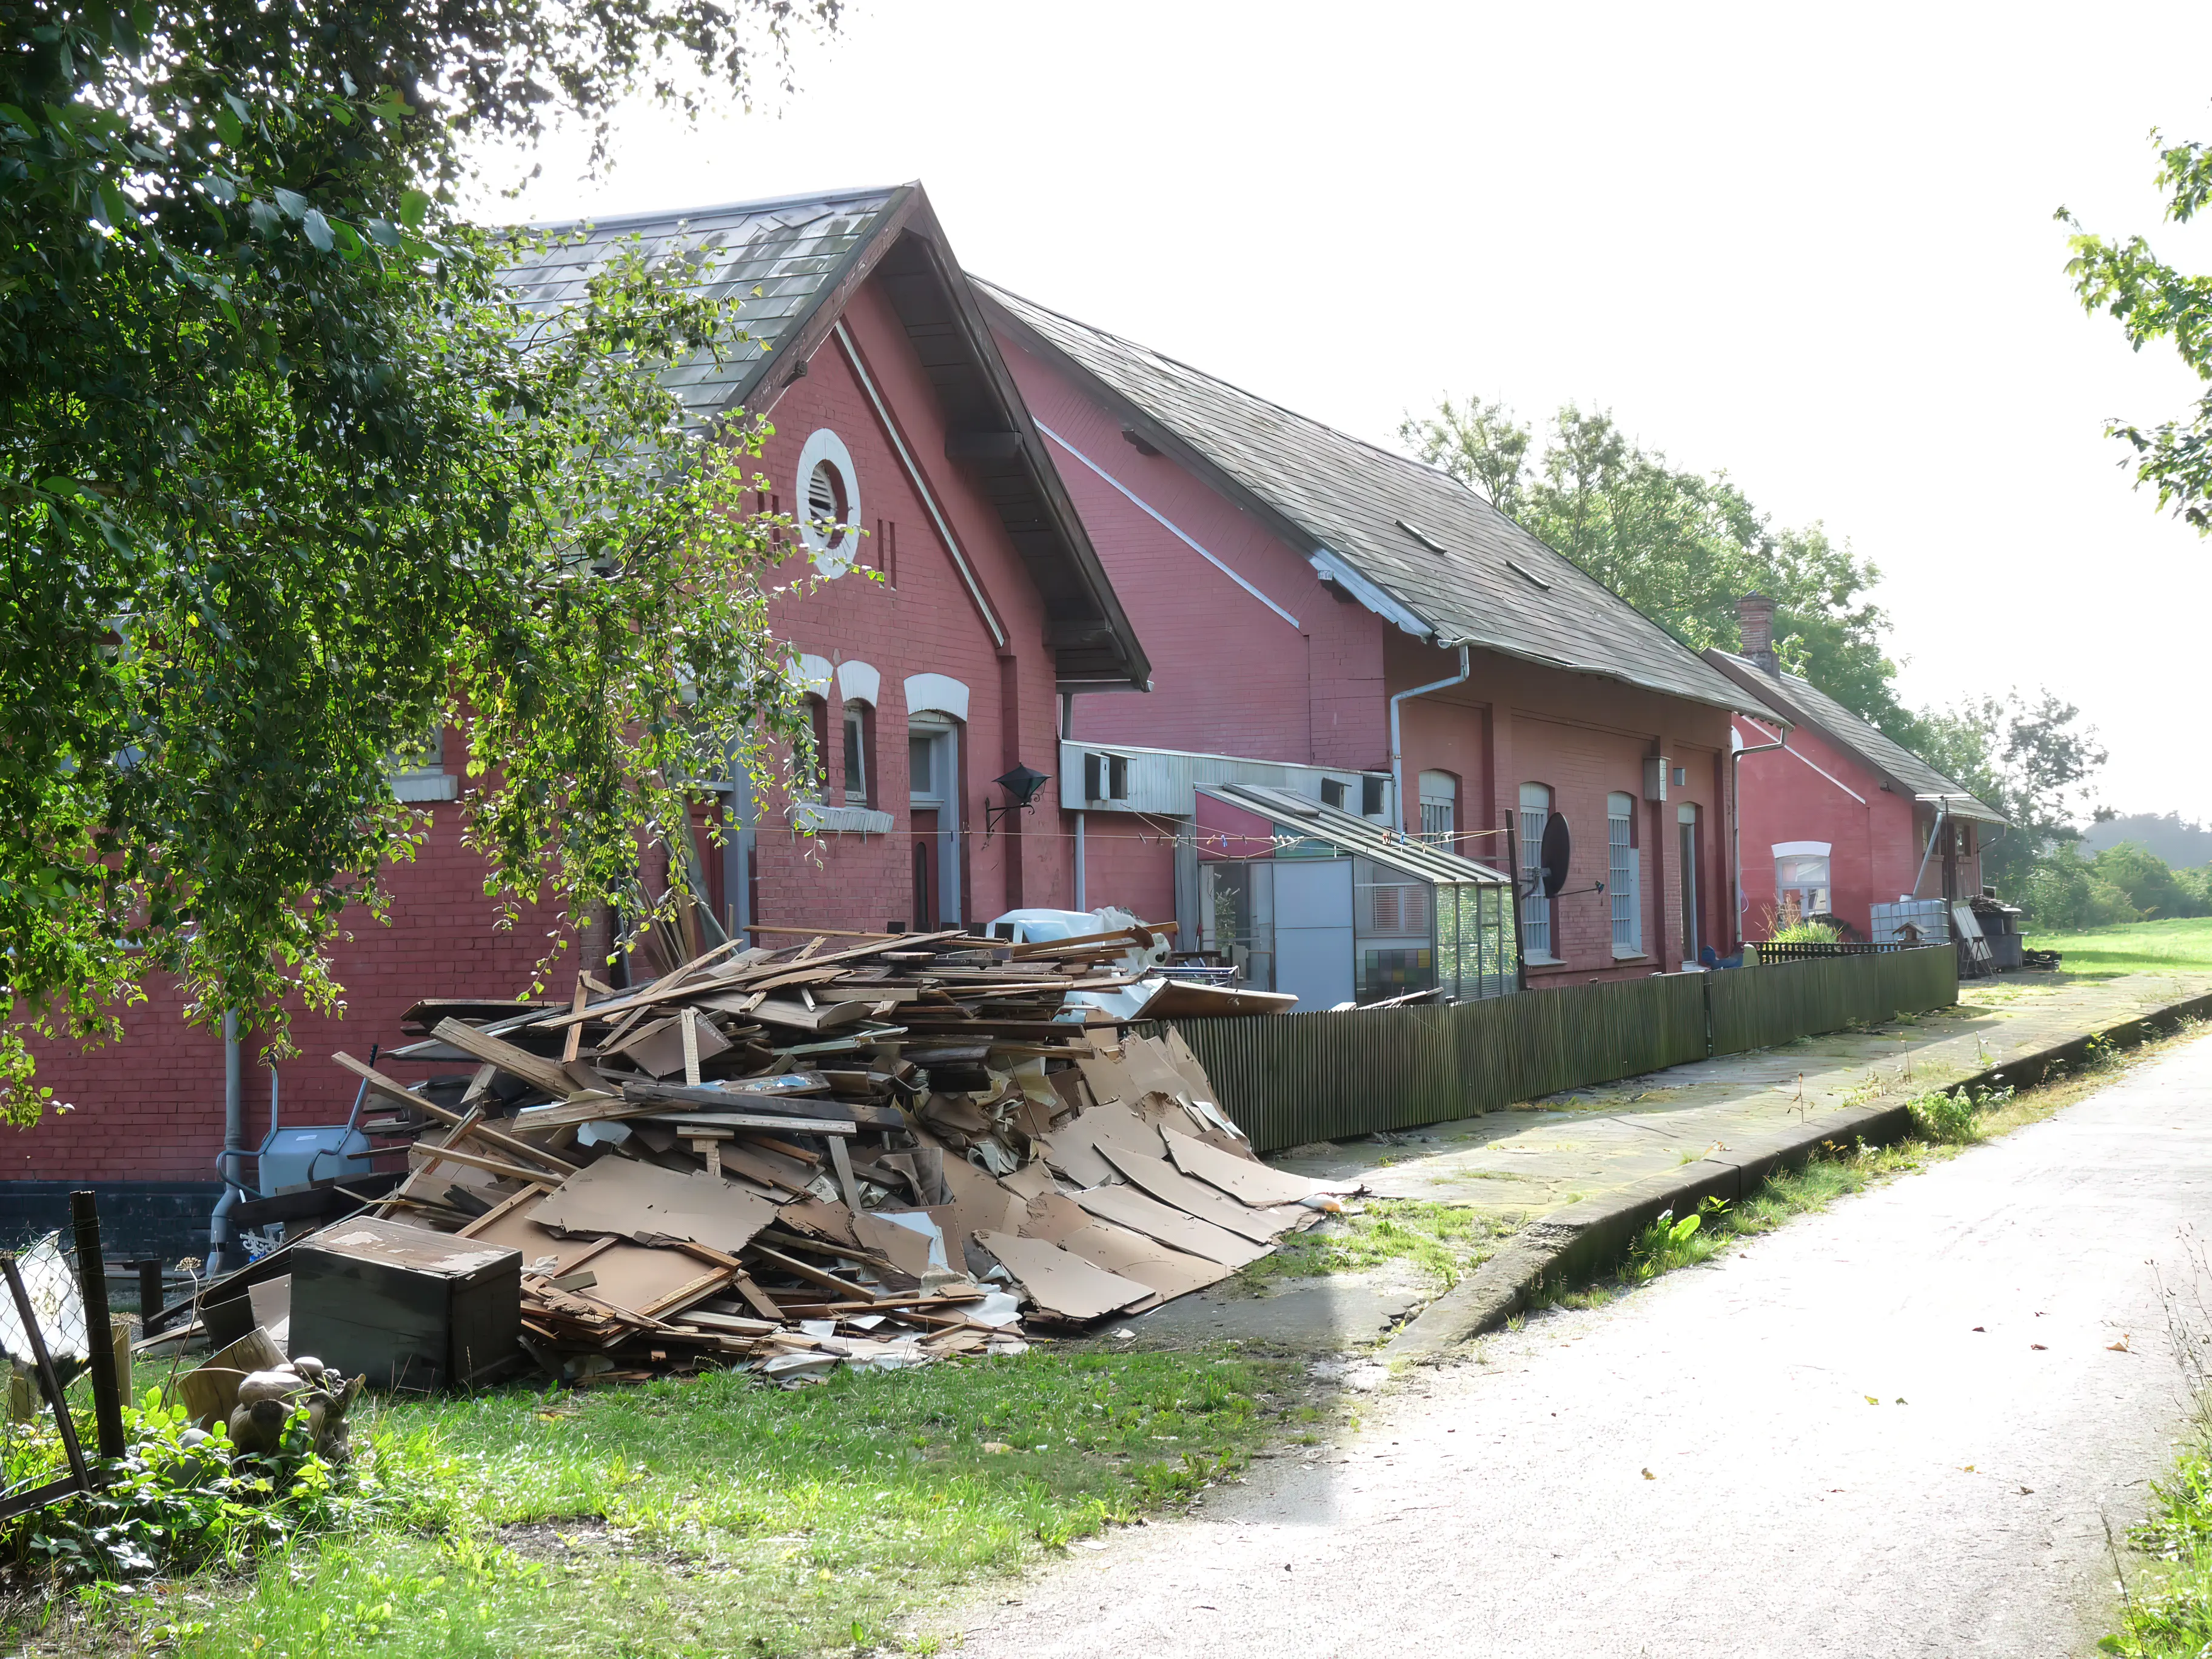
<svg viewBox="0 0 2212 1659">
<path fill-rule="evenodd" d="M 1259 1150 L 1416 1128 L 1958 1002 L 1949 945 L 1460 1002 L 1175 1020 Z"/>
</svg>

